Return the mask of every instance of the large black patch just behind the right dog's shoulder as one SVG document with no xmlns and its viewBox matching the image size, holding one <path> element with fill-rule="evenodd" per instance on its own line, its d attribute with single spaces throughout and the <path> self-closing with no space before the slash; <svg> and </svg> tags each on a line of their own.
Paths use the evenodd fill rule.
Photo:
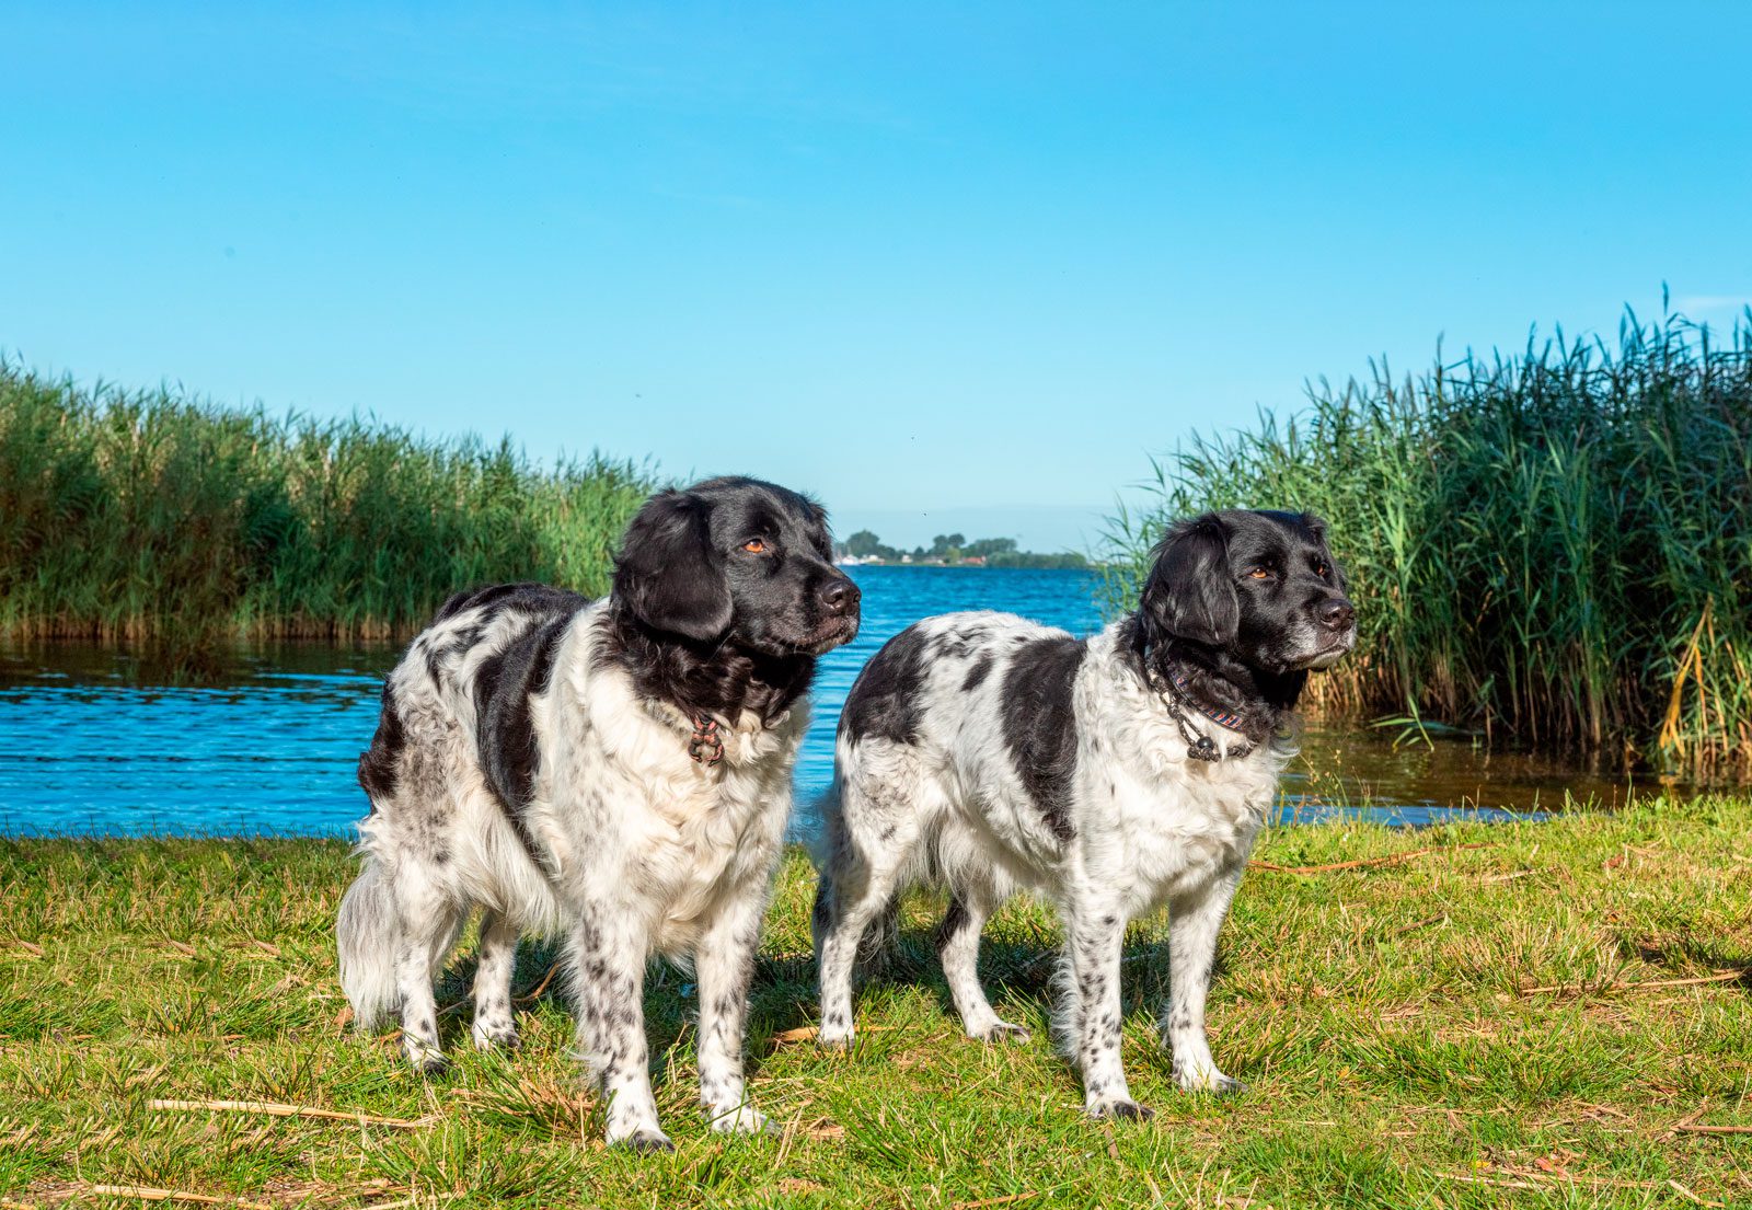
<svg viewBox="0 0 1752 1210">
<path fill-rule="evenodd" d="M 1060 841 L 1070 827 L 1070 779 L 1077 767 L 1077 720 L 1070 690 L 1088 646 L 1070 636 L 1030 639 L 1004 672 L 1004 746 L 1023 790 Z"/>
</svg>

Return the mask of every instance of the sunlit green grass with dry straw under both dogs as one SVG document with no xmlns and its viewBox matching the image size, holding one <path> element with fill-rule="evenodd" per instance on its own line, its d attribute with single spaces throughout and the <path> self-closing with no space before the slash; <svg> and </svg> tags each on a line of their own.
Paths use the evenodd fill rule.
<svg viewBox="0 0 1752 1210">
<path fill-rule="evenodd" d="M 1172 1089 L 1151 1007 L 1163 921 L 1127 939 L 1127 1068 L 1149 1124 L 1091 1124 L 1042 1040 L 1055 928 L 988 933 L 999 1010 L 1035 1040 L 967 1042 L 909 902 L 901 974 L 818 1052 L 813 876 L 788 860 L 752 1024 L 776 1140 L 692 1112 L 692 986 L 646 996 L 673 1156 L 597 1142 L 552 989 L 513 1058 L 424 1084 L 345 1028 L 340 842 L 4 841 L 0 1196 L 138 1205 L 151 1187 L 270 1206 L 1664 1206 L 1752 1205 L 1752 800 L 1650 800 L 1551 823 L 1281 828 L 1223 935 L 1214 1049 L 1237 1100 Z M 1482 846 L 1482 848 L 1463 848 Z M 1435 851 L 1423 851 L 1423 849 Z M 1339 862 L 1396 862 L 1295 872 Z M 443 979 L 463 998 L 470 949 Z M 552 951 L 526 946 L 519 989 Z M 1540 991 L 1544 989 L 1544 991 Z M 410 1126 L 163 1110 L 251 1100 Z"/>
</svg>

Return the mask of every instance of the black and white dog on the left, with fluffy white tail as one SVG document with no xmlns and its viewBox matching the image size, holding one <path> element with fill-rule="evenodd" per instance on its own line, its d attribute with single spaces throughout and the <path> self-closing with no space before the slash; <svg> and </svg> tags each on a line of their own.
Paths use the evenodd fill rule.
<svg viewBox="0 0 1752 1210">
<path fill-rule="evenodd" d="M 830 557 L 818 504 L 718 478 L 645 504 L 606 601 L 452 597 L 389 674 L 359 758 L 364 872 L 338 925 L 359 1026 L 399 1009 L 408 1059 L 442 1070 L 433 977 L 478 907 L 475 1044 L 515 1045 L 517 940 L 561 935 L 608 1140 L 668 1147 L 645 963 L 692 956 L 699 1100 L 713 1129 L 764 1129 L 743 1094 L 748 979 L 804 692 L 858 629 Z"/>
</svg>

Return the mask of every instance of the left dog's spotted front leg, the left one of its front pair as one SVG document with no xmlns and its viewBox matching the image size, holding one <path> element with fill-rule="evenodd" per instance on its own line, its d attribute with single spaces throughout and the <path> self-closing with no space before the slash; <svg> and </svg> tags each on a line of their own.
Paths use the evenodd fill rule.
<svg viewBox="0 0 1752 1210">
<path fill-rule="evenodd" d="M 571 930 L 569 960 L 578 1054 L 606 1107 L 610 1145 L 673 1150 L 657 1124 L 645 1049 L 646 939 L 629 911 L 585 911 Z"/>
</svg>

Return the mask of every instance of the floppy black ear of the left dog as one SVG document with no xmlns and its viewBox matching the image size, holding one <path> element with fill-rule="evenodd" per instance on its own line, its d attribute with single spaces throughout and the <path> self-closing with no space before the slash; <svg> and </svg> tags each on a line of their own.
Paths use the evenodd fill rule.
<svg viewBox="0 0 1752 1210">
<path fill-rule="evenodd" d="M 689 492 L 653 496 L 620 543 L 615 601 L 653 630 L 689 639 L 724 634 L 731 587 L 711 545 L 711 504 Z"/>
</svg>

